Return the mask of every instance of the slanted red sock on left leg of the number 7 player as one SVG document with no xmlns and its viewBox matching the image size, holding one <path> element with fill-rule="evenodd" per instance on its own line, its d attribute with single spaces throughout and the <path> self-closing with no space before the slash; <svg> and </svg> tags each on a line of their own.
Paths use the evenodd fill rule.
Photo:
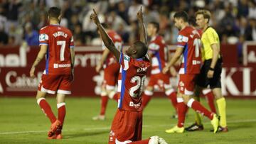
<svg viewBox="0 0 256 144">
<path fill-rule="evenodd" d="M 51 123 L 54 123 L 56 121 L 56 117 L 53 114 L 52 109 L 50 108 L 50 105 L 46 101 L 45 98 L 40 98 L 37 100 L 38 105 L 41 107 L 43 113 L 46 114 L 46 116 L 50 119 Z"/>
</svg>

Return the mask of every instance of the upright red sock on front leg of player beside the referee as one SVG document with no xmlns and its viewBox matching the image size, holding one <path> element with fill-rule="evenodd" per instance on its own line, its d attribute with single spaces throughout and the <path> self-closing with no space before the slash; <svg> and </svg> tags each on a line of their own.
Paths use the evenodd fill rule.
<svg viewBox="0 0 256 144">
<path fill-rule="evenodd" d="M 185 117 L 186 117 L 186 111 L 188 109 L 188 106 L 184 104 L 184 101 L 181 97 L 177 98 L 177 112 L 178 112 L 178 128 L 182 128 L 184 126 Z"/>
</svg>

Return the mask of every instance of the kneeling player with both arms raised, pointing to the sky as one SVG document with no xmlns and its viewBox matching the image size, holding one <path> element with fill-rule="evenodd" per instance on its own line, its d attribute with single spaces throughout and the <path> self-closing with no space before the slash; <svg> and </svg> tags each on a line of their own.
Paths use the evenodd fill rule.
<svg viewBox="0 0 256 144">
<path fill-rule="evenodd" d="M 142 18 L 142 8 L 137 17 L 140 25 L 140 40 L 134 42 L 126 51 L 126 54 L 115 48 L 111 38 L 105 32 L 97 13 L 91 14 L 90 18 L 97 25 L 103 42 L 119 60 L 121 76 L 118 81 L 119 100 L 117 113 L 112 121 L 109 143 L 166 143 L 157 136 L 142 140 L 142 89 L 146 71 L 150 67 L 146 57 L 146 30 Z"/>
</svg>

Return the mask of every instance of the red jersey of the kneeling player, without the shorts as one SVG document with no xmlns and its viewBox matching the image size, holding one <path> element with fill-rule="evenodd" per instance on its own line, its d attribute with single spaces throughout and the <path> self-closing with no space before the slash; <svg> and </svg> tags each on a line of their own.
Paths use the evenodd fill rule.
<svg viewBox="0 0 256 144">
<path fill-rule="evenodd" d="M 141 96 L 150 62 L 142 58 L 133 59 L 121 52 L 119 64 L 121 67 L 117 87 L 118 108 L 127 111 L 142 111 Z"/>
</svg>

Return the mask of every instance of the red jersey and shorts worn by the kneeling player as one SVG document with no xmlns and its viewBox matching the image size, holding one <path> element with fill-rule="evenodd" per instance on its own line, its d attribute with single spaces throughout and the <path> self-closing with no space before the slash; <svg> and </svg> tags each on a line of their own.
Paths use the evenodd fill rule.
<svg viewBox="0 0 256 144">
<path fill-rule="evenodd" d="M 142 139 L 141 96 L 150 62 L 121 53 L 119 64 L 118 109 L 112 121 L 109 143 L 128 143 Z"/>
</svg>

